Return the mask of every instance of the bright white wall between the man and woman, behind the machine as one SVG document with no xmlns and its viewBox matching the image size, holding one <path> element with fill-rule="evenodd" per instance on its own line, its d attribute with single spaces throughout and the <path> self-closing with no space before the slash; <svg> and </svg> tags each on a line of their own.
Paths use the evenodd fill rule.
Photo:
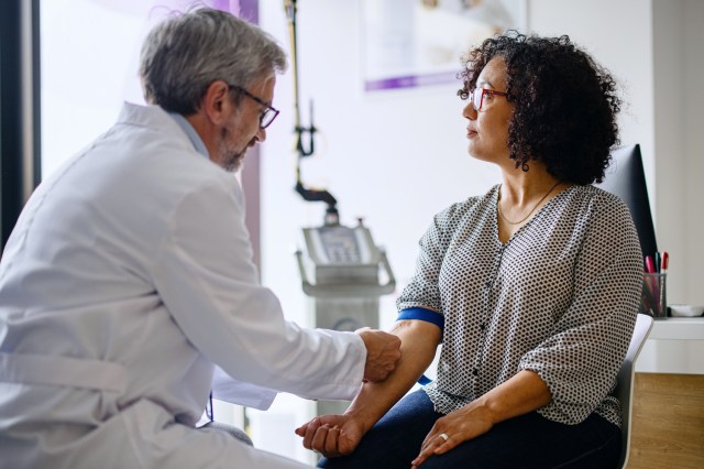
<svg viewBox="0 0 704 469">
<path fill-rule="evenodd" d="M 495 167 L 466 153 L 465 121 L 458 85 L 369 95 L 362 89 L 360 2 L 298 2 L 300 103 L 307 124 L 315 100 L 320 153 L 302 162 L 309 186 L 324 186 L 339 200 L 341 221 L 364 217 L 383 244 L 399 284 L 411 275 L 417 242 L 435 212 L 498 182 Z M 288 48 L 286 19 L 279 2 L 260 2 L 261 25 Z M 293 78 L 280 76 L 274 106 L 282 109 L 262 145 L 262 279 L 280 297 L 287 317 L 310 325 L 293 251 L 301 228 L 322 223 L 324 206 L 306 203 L 295 184 Z M 400 286 L 399 286 L 400 287 Z M 396 315 L 395 295 L 382 298 L 382 325 Z M 257 422 L 285 428 L 308 417 L 296 397 L 280 395 L 272 412 L 249 412 Z M 286 416 L 288 415 L 288 416 Z M 288 421 L 287 421 L 288 418 Z M 260 425 L 262 427 L 263 425 Z M 288 434 L 286 434 L 288 435 Z M 289 441 L 260 438 L 255 444 L 289 454 Z M 295 441 L 296 456 L 309 452 Z"/>
</svg>

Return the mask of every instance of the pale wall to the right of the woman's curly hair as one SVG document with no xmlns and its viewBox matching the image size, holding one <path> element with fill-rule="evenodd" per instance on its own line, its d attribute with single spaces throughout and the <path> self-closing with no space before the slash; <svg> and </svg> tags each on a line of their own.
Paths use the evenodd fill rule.
<svg viewBox="0 0 704 469">
<path fill-rule="evenodd" d="M 630 103 L 619 121 L 622 142 L 642 148 L 658 246 L 671 257 L 668 302 L 704 304 L 704 2 L 528 4 L 535 32 L 569 33 L 622 79 Z"/>
</svg>

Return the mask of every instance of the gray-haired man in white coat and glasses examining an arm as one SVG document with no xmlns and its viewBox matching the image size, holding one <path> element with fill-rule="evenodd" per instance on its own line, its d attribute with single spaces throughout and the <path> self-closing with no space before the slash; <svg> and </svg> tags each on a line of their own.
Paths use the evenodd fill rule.
<svg viewBox="0 0 704 469">
<path fill-rule="evenodd" d="M 232 172 L 285 67 L 231 14 L 170 18 L 142 50 L 151 106 L 34 192 L 0 263 L 0 467 L 299 468 L 195 428 L 216 366 L 319 399 L 394 369 L 395 336 L 302 329 L 257 282 Z"/>
</svg>

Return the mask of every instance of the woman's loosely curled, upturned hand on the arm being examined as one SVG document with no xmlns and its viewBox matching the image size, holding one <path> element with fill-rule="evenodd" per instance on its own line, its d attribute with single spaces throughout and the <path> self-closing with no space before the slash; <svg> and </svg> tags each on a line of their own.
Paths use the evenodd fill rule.
<svg viewBox="0 0 704 469">
<path fill-rule="evenodd" d="M 351 454 L 364 433 L 362 422 L 351 415 L 322 415 L 296 428 L 304 447 L 327 458 Z"/>
</svg>

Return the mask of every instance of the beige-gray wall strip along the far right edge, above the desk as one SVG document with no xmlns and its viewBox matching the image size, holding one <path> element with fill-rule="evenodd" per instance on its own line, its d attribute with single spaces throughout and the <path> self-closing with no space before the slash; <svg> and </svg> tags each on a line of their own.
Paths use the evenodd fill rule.
<svg viewBox="0 0 704 469">
<path fill-rule="evenodd" d="M 676 264 L 670 303 L 703 304 L 704 2 L 653 2 L 658 236 Z"/>
</svg>

